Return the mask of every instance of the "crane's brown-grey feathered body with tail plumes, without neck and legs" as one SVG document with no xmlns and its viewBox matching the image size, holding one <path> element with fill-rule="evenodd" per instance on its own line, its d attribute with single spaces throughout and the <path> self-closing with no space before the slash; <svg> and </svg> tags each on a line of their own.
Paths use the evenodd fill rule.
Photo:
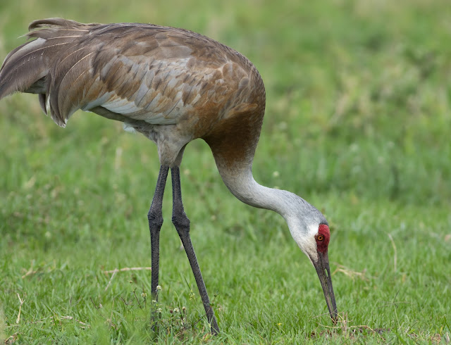
<svg viewBox="0 0 451 345">
<path fill-rule="evenodd" d="M 54 26 L 28 33 L 37 39 L 6 58 L 0 97 L 18 90 L 39 94 L 44 112 L 62 127 L 78 109 L 120 120 L 156 142 L 161 163 L 170 167 L 193 139 L 213 146 L 252 139 L 250 146 L 257 145 L 264 84 L 237 51 L 157 25 L 37 20 L 30 29 L 47 24 Z M 26 75 L 17 68 L 23 61 Z M 233 123 L 237 116 L 240 123 Z"/>
</svg>

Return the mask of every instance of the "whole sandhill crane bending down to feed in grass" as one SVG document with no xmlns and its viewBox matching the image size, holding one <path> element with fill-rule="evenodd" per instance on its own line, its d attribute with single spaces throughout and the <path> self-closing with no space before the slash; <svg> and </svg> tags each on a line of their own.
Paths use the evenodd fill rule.
<svg viewBox="0 0 451 345">
<path fill-rule="evenodd" d="M 158 147 L 159 177 L 148 213 L 155 299 L 161 207 L 171 169 L 172 221 L 190 261 L 211 332 L 219 332 L 180 189 L 185 146 L 202 138 L 211 148 L 223 182 L 237 199 L 285 218 L 293 239 L 316 268 L 335 322 L 326 218 L 301 197 L 261 186 L 252 177 L 266 95 L 257 68 L 245 56 L 195 32 L 159 25 L 82 24 L 50 18 L 35 20 L 28 29 L 27 37 L 34 40 L 13 49 L 1 67 L 0 99 L 13 92 L 38 94 L 44 113 L 61 127 L 78 109 L 92 111 L 122 121 Z"/>
</svg>

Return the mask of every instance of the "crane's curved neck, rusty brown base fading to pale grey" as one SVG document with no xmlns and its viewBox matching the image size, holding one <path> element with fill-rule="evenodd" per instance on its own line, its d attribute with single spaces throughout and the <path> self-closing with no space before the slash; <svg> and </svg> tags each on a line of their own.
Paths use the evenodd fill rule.
<svg viewBox="0 0 451 345">
<path fill-rule="evenodd" d="M 254 207 L 276 211 L 288 220 L 299 213 L 299 210 L 296 212 L 297 205 L 309 204 L 290 192 L 264 187 L 252 176 L 252 161 L 264 117 L 262 82 L 259 90 L 253 103 L 242 104 L 254 111 L 231 111 L 203 139 L 211 148 L 223 182 L 237 199 Z"/>
</svg>

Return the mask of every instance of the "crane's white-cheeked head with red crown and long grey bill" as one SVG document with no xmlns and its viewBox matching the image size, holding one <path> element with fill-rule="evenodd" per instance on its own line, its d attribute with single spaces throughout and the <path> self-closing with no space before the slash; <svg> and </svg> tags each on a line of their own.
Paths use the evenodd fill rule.
<svg viewBox="0 0 451 345">
<path fill-rule="evenodd" d="M 291 224 L 291 226 L 290 222 L 288 222 L 288 225 L 293 239 L 295 239 L 299 248 L 309 257 L 316 269 L 316 273 L 318 273 L 324 297 L 326 297 L 330 318 L 332 318 L 335 324 L 337 322 L 338 312 L 335 295 L 333 294 L 332 278 L 330 277 L 328 258 L 330 231 L 326 219 L 323 218 L 322 220 L 314 221 L 309 225 L 304 221 L 296 222 L 295 225 Z"/>
</svg>

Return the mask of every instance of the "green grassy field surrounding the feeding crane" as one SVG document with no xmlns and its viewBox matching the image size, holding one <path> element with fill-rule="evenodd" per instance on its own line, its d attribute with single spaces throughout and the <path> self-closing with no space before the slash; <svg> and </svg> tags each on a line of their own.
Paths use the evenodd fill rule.
<svg viewBox="0 0 451 345">
<path fill-rule="evenodd" d="M 106 275 L 150 265 L 156 147 L 90 113 L 76 113 L 63 130 L 36 96 L 18 94 L 0 102 L 0 339 L 445 344 L 447 0 L 91 2 L 2 1 L 0 56 L 23 42 L 17 37 L 32 20 L 54 16 L 186 27 L 248 56 L 268 95 L 254 175 L 325 213 L 342 320 L 331 327 L 316 272 L 283 219 L 234 199 L 200 141 L 185 151 L 183 195 L 221 334 L 209 335 L 171 224 L 171 193 L 158 306 L 149 271 Z M 157 334 L 147 325 L 152 308 L 161 308 Z"/>
</svg>

